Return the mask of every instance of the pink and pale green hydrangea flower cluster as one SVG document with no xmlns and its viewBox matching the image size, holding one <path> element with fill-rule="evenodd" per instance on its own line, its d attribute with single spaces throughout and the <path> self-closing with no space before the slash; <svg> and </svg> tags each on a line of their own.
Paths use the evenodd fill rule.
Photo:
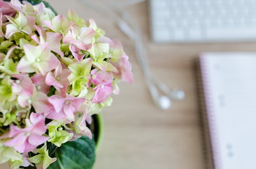
<svg viewBox="0 0 256 169">
<path fill-rule="evenodd" d="M 0 163 L 47 168 L 46 142 L 92 137 L 91 115 L 133 82 L 121 43 L 104 34 L 71 9 L 0 0 Z"/>
</svg>

